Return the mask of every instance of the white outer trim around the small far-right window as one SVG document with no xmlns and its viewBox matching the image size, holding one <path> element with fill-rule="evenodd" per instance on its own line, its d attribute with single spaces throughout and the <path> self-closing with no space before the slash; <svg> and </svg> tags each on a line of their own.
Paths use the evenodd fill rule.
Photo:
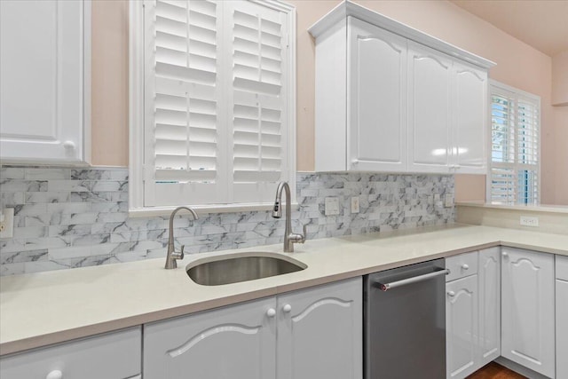
<svg viewBox="0 0 568 379">
<path fill-rule="evenodd" d="M 488 90 L 488 96 L 487 96 L 487 126 L 489 128 L 488 132 L 487 132 L 487 175 L 486 175 L 486 179 L 485 179 L 485 203 L 487 204 L 493 204 L 493 205 L 502 205 L 504 207 L 515 207 L 515 206 L 519 206 L 519 204 L 515 204 L 515 205 L 507 205 L 507 204 L 497 204 L 497 203 L 493 203 L 492 202 L 492 193 L 491 193 L 491 173 L 492 173 L 492 168 L 493 168 L 493 147 L 492 147 L 492 87 L 497 87 L 500 90 L 503 91 L 508 91 L 511 92 L 512 94 L 516 95 L 516 96 L 522 96 L 526 99 L 532 99 L 534 100 L 536 103 L 538 103 L 539 105 L 539 134 L 538 134 L 538 138 L 539 138 L 539 158 L 538 158 L 538 163 L 537 163 L 537 170 L 538 170 L 538 177 L 537 177 L 537 181 L 538 181 L 538 204 L 540 204 L 540 197 L 542 195 L 541 189 L 542 187 L 540 186 L 540 180 L 541 180 L 541 176 L 542 176 L 542 170 L 540 170 L 540 166 L 541 166 L 541 161 L 542 161 L 542 146 L 541 146 L 541 130 L 542 130 L 542 107 L 541 107 L 541 102 L 540 102 L 540 96 L 535 95 L 533 93 L 530 92 L 526 92 L 523 90 L 519 90 L 518 88 L 512 87 L 510 85 L 507 85 L 505 83 L 501 83 L 501 82 L 497 82 L 496 80 L 490 79 L 489 80 L 489 86 L 487 88 Z M 517 107 L 517 106 L 516 106 Z M 517 155 L 517 138 L 515 140 L 515 154 Z M 537 205 L 538 205 L 537 204 Z"/>
</svg>

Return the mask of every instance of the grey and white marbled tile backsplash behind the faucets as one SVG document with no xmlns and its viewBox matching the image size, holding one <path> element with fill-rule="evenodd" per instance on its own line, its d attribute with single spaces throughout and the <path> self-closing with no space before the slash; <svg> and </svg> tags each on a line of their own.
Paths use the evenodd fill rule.
<svg viewBox="0 0 568 379">
<path fill-rule="evenodd" d="M 274 186 L 276 189 L 276 186 Z M 299 173 L 295 231 L 308 239 L 454 222 L 449 175 Z M 360 211 L 351 214 L 351 197 Z M 325 216 L 325 198 L 340 214 Z M 128 216 L 128 169 L 0 168 L 0 206 L 14 208 L 14 235 L 0 240 L 0 274 L 40 272 L 165 257 L 168 217 Z M 270 211 L 177 217 L 177 246 L 200 253 L 281 243 L 284 220 Z"/>
</svg>

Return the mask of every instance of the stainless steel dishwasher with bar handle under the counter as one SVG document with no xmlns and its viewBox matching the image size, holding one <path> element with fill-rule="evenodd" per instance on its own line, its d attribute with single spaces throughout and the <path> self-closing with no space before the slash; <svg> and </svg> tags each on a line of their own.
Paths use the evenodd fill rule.
<svg viewBox="0 0 568 379">
<path fill-rule="evenodd" d="M 447 272 L 437 259 L 365 276 L 366 379 L 446 377 Z"/>
</svg>

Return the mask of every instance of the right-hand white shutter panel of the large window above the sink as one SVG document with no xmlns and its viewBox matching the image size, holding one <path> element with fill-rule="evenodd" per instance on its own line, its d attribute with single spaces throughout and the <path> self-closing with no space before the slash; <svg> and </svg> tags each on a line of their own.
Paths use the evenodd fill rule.
<svg viewBox="0 0 568 379">
<path fill-rule="evenodd" d="M 225 15 L 231 20 L 233 201 L 272 201 L 276 184 L 288 176 L 286 19 L 248 2 L 228 2 Z"/>
</svg>

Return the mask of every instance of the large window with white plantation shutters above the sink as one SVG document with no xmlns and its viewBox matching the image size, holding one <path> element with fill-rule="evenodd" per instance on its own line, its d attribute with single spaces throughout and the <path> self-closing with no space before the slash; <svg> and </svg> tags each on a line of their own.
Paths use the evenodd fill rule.
<svg viewBox="0 0 568 379">
<path fill-rule="evenodd" d="M 293 8 L 145 0 L 130 13 L 130 209 L 258 205 L 294 186 Z"/>
</svg>

